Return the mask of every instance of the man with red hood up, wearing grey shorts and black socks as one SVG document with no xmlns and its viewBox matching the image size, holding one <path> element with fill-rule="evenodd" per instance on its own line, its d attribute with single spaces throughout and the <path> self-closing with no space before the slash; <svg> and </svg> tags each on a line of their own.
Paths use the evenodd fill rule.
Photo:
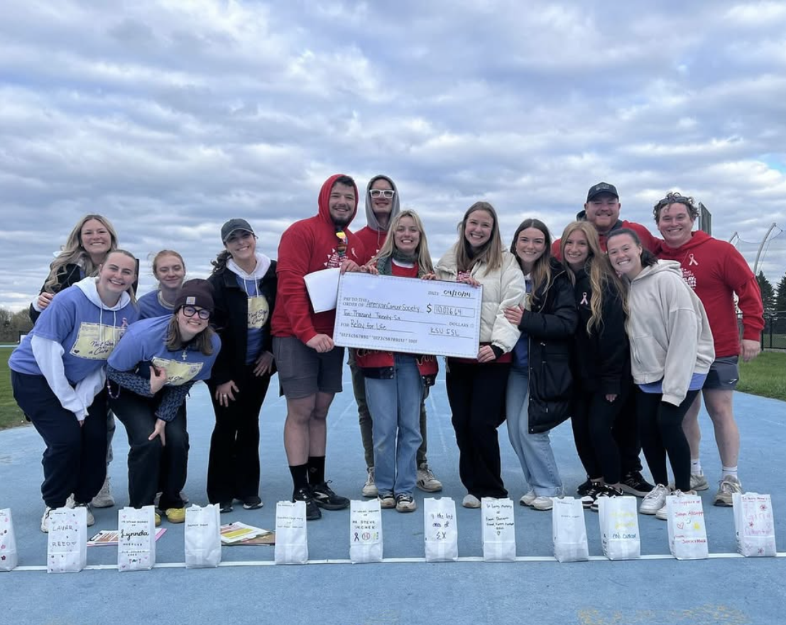
<svg viewBox="0 0 786 625">
<path fill-rule="evenodd" d="M 277 302 L 271 322 L 278 380 L 287 400 L 284 447 L 292 473 L 292 501 L 306 502 L 306 517 L 320 509 L 340 510 L 349 499 L 325 480 L 325 420 L 333 396 L 341 391 L 343 347 L 333 344 L 336 311 L 315 313 L 303 277 L 340 267 L 357 271 L 363 245 L 347 230 L 358 211 L 358 187 L 336 174 L 322 185 L 317 215 L 295 222 L 278 246 Z"/>
</svg>

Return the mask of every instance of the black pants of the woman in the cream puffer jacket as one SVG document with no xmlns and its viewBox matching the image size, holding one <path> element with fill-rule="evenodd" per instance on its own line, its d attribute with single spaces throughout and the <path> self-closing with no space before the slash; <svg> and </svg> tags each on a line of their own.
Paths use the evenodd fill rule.
<svg viewBox="0 0 786 625">
<path fill-rule="evenodd" d="M 459 451 L 458 473 L 468 493 L 477 498 L 508 496 L 497 428 L 509 370 L 508 364 L 448 361 L 446 388 Z"/>
</svg>

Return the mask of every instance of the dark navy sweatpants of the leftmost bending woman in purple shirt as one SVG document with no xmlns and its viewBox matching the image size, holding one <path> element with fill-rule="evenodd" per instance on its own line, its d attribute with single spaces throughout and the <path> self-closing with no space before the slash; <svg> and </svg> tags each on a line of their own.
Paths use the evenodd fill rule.
<svg viewBox="0 0 786 625">
<path fill-rule="evenodd" d="M 65 410 L 43 376 L 11 371 L 13 399 L 46 443 L 41 494 L 50 508 L 62 508 L 70 494 L 89 503 L 106 477 L 106 390 L 93 399 L 84 425 Z"/>
</svg>

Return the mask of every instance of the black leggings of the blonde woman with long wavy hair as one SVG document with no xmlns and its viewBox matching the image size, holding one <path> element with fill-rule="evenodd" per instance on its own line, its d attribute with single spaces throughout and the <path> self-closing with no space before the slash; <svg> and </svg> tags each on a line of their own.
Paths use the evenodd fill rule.
<svg viewBox="0 0 786 625">
<path fill-rule="evenodd" d="M 629 394 L 630 387 L 625 386 L 613 402 L 601 391 L 579 391 L 575 395 L 573 440 L 590 479 L 602 476 L 607 484 L 619 483 L 620 454 L 612 426 L 619 421 Z M 635 424 L 634 414 L 627 414 L 626 418 Z"/>
</svg>

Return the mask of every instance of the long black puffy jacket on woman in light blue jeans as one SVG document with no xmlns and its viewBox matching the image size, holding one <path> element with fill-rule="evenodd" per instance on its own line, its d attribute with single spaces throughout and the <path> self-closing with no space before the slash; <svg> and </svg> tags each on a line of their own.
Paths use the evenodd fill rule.
<svg viewBox="0 0 786 625">
<path fill-rule="evenodd" d="M 519 329 L 529 337 L 529 432 L 548 432 L 571 416 L 571 351 L 578 325 L 573 284 L 556 260 L 553 280 L 533 293 Z"/>
</svg>

